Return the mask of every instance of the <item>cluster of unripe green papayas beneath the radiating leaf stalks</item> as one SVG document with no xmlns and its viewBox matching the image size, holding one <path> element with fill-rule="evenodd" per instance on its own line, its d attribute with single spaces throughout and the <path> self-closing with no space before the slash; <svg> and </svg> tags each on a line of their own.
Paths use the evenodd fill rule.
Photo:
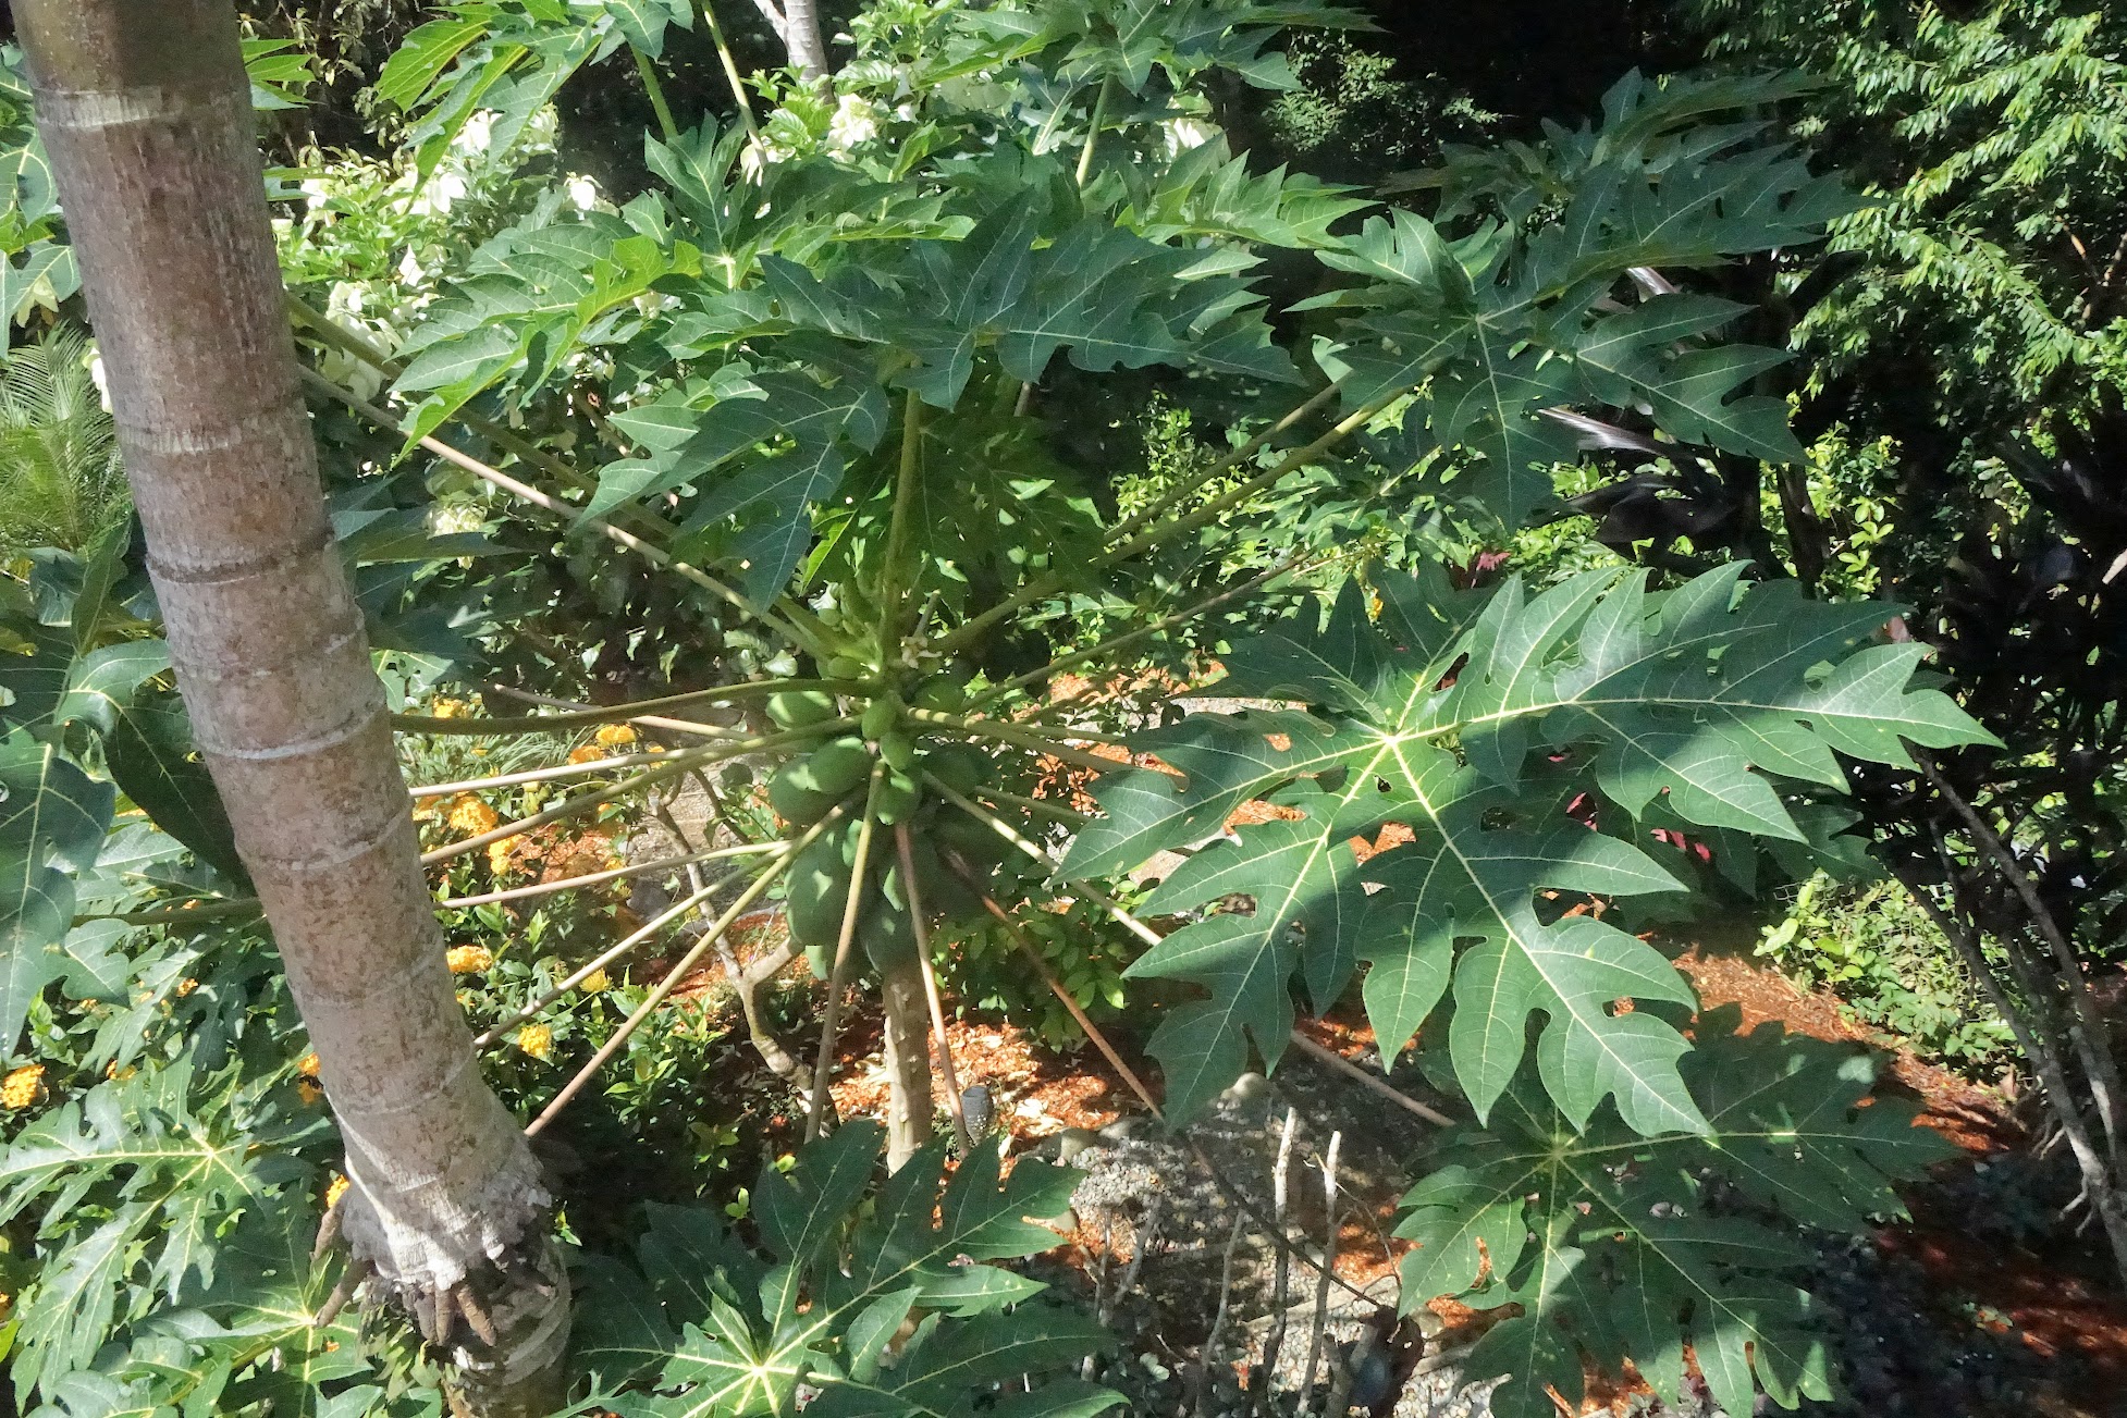
<svg viewBox="0 0 2127 1418">
<path fill-rule="evenodd" d="M 949 676 L 932 676 L 906 702 L 883 693 L 861 708 L 857 733 L 817 744 L 768 780 L 768 804 L 791 827 L 813 827 L 842 808 L 840 821 L 813 838 L 785 876 L 791 940 L 804 948 L 813 974 L 827 978 L 849 895 L 859 887 L 857 842 L 866 806 L 878 827 L 864 872 L 855 940 L 872 969 L 889 972 L 915 959 L 915 910 L 923 912 L 929 929 L 983 912 L 983 893 L 991 889 L 989 880 L 1010 844 L 942 799 L 932 784 L 976 795 L 993 787 L 995 761 L 976 744 L 927 731 L 908 716 L 908 708 L 951 714 L 964 699 L 964 689 Z M 825 725 L 851 712 L 819 689 L 772 695 L 766 708 L 783 729 Z M 902 874 L 895 827 L 908 827 L 915 893 Z"/>
</svg>

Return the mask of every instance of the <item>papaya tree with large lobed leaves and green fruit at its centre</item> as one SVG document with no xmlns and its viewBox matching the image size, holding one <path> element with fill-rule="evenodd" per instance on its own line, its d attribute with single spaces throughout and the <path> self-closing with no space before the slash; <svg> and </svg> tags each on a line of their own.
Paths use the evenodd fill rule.
<svg viewBox="0 0 2127 1418">
<path fill-rule="evenodd" d="M 506 164 L 587 64 L 627 49 L 653 74 L 685 21 L 453 4 L 376 98 L 415 185 L 451 153 Z M 1914 646 L 1878 644 L 1889 606 L 1740 565 L 1459 585 L 1448 563 L 1548 514 L 1585 446 L 1799 457 L 1753 393 L 1780 355 L 1729 340 L 1742 306 L 1691 285 L 1816 240 L 1850 198 L 1746 117 L 1787 91 L 1759 79 L 1627 77 L 1600 123 L 1461 155 L 1417 187 L 1427 210 L 1251 170 L 1208 85 L 1278 87 L 1280 34 L 1359 23 L 1314 0 L 881 0 L 832 104 L 768 85 L 783 102 L 738 128 L 666 108 L 625 204 L 557 179 L 440 276 L 404 276 L 419 291 L 389 317 L 351 319 L 330 276 L 296 291 L 319 427 L 368 421 L 517 538 L 515 563 L 483 561 L 506 574 L 379 583 L 381 636 L 445 585 L 487 617 L 447 651 L 464 680 L 576 704 L 596 657 L 525 621 L 585 585 L 657 617 L 619 636 L 668 676 L 653 697 L 391 721 L 421 742 L 670 736 L 538 770 L 593 784 L 432 861 L 710 770 L 755 774 L 772 812 L 732 899 L 530 1131 L 600 1086 L 747 908 L 778 899 L 827 982 L 806 1131 L 834 1135 L 764 1176 L 744 1229 L 659 1210 L 636 1256 L 585 1259 L 585 1403 L 625 1384 L 649 1412 L 766 1414 L 808 1384 L 821 1412 L 976 1412 L 1008 1380 L 1025 1412 L 1115 1403 L 1025 1392 L 1017 1375 L 1095 1339 L 955 1265 L 1036 1250 L 1021 1218 L 1066 1182 L 1027 1161 L 1002 1182 L 964 1122 L 944 1182 L 927 1142 L 932 1042 L 957 1103 L 940 940 L 1064 897 L 1110 910 L 1146 946 L 1134 974 L 1185 993 L 1151 1040 L 1168 1120 L 1276 1067 L 1302 999 L 1357 982 L 1387 1052 L 1421 1037 L 1472 1122 L 1417 1178 L 1404 1303 L 1523 1307 L 1483 1352 L 1517 1380 L 1497 1412 L 1551 1412 L 1582 1354 L 1665 1397 L 1691 1354 L 1729 1412 L 1825 1392 L 1778 1222 L 1893 1210 L 1929 1135 L 1863 1105 L 1850 1061 L 1693 1029 L 1689 982 L 1612 912 L 1708 884 L 1659 846 L 1676 835 L 1740 889 L 1836 853 L 1844 763 L 1982 733 L 1916 680 Z M 372 387 L 328 372 L 351 368 Z M 1121 436 L 1149 391 L 1189 421 L 1163 455 Z M 428 485 L 391 457 L 334 470 L 340 491 L 398 478 L 393 512 L 419 510 Z M 1076 691 L 1149 661 L 1200 674 L 1189 651 L 1223 678 L 1170 685 L 1180 704 Z M 1242 708 L 1185 712 L 1206 689 Z M 57 846 L 38 880 L 96 857 Z M 1117 895 L 1166 853 L 1146 912 L 1170 931 Z M 696 897 L 508 1027 L 627 969 Z M 827 1086 L 866 982 L 893 1093 L 870 1216 L 876 1137 L 832 1127 Z M 1763 1216 L 1723 1212 L 1734 1195 Z"/>
</svg>

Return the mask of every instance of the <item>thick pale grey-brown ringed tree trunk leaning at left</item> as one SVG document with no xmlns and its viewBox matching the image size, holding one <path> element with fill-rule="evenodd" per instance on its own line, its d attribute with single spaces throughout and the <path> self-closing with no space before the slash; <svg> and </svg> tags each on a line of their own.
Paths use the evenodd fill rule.
<svg viewBox="0 0 2127 1418">
<path fill-rule="evenodd" d="M 347 1144 L 340 1231 L 464 1409 L 553 1407 L 549 1195 L 481 1080 L 332 542 L 228 0 L 17 0 L 170 659 Z"/>
</svg>

